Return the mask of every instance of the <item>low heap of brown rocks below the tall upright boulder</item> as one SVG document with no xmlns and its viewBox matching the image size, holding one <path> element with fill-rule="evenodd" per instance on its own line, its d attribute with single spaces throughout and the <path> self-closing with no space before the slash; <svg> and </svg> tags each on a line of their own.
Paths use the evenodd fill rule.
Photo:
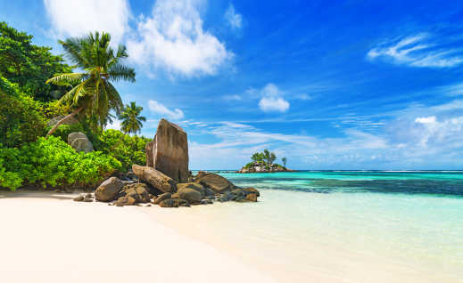
<svg viewBox="0 0 463 283">
<path fill-rule="evenodd" d="M 117 177 L 104 181 L 95 190 L 95 200 L 112 206 L 148 204 L 161 207 L 209 205 L 214 201 L 256 202 L 260 197 L 254 188 L 238 188 L 219 174 L 200 172 L 190 181 L 178 183 L 148 166 L 134 166 L 142 182 L 122 182 Z M 79 195 L 75 201 L 91 202 L 90 193 Z"/>
</svg>

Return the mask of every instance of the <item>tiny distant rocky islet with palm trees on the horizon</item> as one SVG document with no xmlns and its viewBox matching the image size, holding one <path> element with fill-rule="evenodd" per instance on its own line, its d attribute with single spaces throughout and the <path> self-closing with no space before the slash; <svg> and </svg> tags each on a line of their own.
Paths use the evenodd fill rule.
<svg viewBox="0 0 463 283">
<path fill-rule="evenodd" d="M 252 162 L 246 164 L 241 170 L 236 173 L 270 173 L 270 172 L 294 172 L 294 170 L 286 168 L 286 158 L 281 158 L 283 166 L 274 163 L 277 156 L 274 152 L 264 150 L 256 152 L 251 157 Z"/>
</svg>

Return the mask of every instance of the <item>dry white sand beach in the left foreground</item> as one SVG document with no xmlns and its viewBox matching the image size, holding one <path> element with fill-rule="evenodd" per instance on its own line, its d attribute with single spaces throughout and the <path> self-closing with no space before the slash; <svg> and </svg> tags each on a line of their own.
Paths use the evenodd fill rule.
<svg viewBox="0 0 463 283">
<path fill-rule="evenodd" d="M 0 282 L 274 281 L 142 211 L 159 207 L 70 198 L 0 192 Z"/>
</svg>

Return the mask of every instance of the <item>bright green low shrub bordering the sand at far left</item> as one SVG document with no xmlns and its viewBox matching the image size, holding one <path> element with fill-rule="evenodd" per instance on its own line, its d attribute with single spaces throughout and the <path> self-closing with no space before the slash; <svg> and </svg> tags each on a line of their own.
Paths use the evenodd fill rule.
<svg viewBox="0 0 463 283">
<path fill-rule="evenodd" d="M 39 138 L 20 149 L 0 148 L 0 186 L 92 187 L 121 165 L 100 151 L 76 152 L 58 137 Z"/>
</svg>

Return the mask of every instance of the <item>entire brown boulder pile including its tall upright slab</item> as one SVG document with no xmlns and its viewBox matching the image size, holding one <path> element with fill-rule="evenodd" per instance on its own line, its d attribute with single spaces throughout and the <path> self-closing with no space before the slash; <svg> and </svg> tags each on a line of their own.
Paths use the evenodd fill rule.
<svg viewBox="0 0 463 283">
<path fill-rule="evenodd" d="M 112 176 L 95 194 L 87 193 L 75 201 L 108 202 L 112 206 L 178 207 L 208 205 L 215 200 L 256 202 L 260 197 L 254 188 L 239 188 L 219 174 L 188 170 L 188 142 L 178 125 L 161 119 L 153 142 L 146 145 L 146 166 L 132 166 L 133 173 L 124 178 Z M 128 179 L 128 180 L 121 180 Z"/>
</svg>

